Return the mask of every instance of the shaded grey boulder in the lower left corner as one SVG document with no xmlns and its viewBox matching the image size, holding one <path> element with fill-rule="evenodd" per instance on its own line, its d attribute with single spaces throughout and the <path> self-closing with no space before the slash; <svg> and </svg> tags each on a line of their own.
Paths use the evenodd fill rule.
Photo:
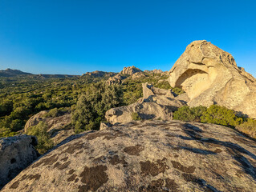
<svg viewBox="0 0 256 192">
<path fill-rule="evenodd" d="M 33 136 L 0 138 L 0 190 L 38 158 L 35 145 L 37 145 L 37 140 Z"/>
</svg>

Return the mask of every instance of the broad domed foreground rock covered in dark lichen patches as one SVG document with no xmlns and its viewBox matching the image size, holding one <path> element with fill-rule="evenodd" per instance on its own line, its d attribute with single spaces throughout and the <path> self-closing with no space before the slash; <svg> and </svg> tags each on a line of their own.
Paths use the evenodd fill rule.
<svg viewBox="0 0 256 192">
<path fill-rule="evenodd" d="M 2 191 L 251 192 L 255 146 L 224 126 L 129 122 L 59 146 Z"/>
</svg>

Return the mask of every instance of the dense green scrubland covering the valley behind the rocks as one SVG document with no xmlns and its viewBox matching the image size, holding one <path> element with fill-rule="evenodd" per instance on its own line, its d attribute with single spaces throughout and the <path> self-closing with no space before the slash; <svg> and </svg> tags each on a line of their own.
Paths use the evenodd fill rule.
<svg viewBox="0 0 256 192">
<path fill-rule="evenodd" d="M 106 77 L 39 78 L 35 76 L 0 78 L 0 138 L 18 134 L 26 121 L 42 110 L 70 107 L 76 132 L 99 129 L 106 110 L 124 106 L 142 97 L 142 82 L 169 89 L 168 78 L 161 74 L 127 78 L 122 85 L 106 86 Z M 177 94 L 180 90 L 177 90 Z M 79 101 L 79 102 L 78 102 Z M 77 105 L 76 105 L 77 103 Z M 55 109 L 55 110 L 53 110 Z M 87 110 L 85 115 L 84 111 Z M 89 120 L 90 119 L 90 120 Z"/>
</svg>

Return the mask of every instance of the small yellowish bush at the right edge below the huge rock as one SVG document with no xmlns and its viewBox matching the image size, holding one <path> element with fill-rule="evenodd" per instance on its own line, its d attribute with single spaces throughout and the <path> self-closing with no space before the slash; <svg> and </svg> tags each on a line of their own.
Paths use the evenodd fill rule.
<svg viewBox="0 0 256 192">
<path fill-rule="evenodd" d="M 246 122 L 236 126 L 236 129 L 242 133 L 248 134 L 252 138 L 256 138 L 256 120 L 248 118 Z"/>
</svg>

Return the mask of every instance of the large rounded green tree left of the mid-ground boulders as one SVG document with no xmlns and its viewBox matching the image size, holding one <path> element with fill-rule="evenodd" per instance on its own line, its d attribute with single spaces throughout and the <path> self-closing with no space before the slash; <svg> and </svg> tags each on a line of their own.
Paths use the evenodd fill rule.
<svg viewBox="0 0 256 192">
<path fill-rule="evenodd" d="M 107 110 L 120 106 L 120 86 L 107 86 L 103 82 L 92 84 L 81 94 L 72 112 L 71 122 L 75 132 L 98 130 Z"/>
</svg>

